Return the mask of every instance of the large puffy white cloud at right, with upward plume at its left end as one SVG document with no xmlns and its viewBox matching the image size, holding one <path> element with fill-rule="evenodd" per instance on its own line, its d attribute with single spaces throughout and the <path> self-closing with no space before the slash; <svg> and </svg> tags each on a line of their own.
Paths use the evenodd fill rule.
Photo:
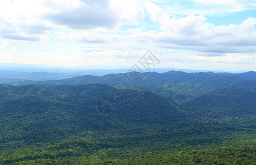
<svg viewBox="0 0 256 165">
<path fill-rule="evenodd" d="M 256 51 L 255 18 L 248 18 L 240 25 L 215 26 L 203 15 L 173 18 L 153 3 L 146 6 L 150 19 L 160 24 L 161 31 L 141 32 L 139 36 L 158 43 L 160 47 L 201 52 Z"/>
</svg>

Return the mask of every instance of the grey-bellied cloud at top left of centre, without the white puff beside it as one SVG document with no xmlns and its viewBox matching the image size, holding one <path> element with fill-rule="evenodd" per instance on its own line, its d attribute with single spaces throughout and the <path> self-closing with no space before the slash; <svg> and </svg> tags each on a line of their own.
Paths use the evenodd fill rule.
<svg viewBox="0 0 256 165">
<path fill-rule="evenodd" d="M 105 2 L 105 1 L 103 1 Z M 117 15 L 109 9 L 108 2 L 91 3 L 79 1 L 78 5 L 52 5 L 53 13 L 44 16 L 54 24 L 65 25 L 74 29 L 93 29 L 95 27 L 113 28 L 117 24 Z"/>
</svg>

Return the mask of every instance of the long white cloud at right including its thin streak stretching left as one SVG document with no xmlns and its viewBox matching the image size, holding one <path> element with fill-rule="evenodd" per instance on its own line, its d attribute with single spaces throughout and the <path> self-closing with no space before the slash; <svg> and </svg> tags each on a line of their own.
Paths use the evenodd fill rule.
<svg viewBox="0 0 256 165">
<path fill-rule="evenodd" d="M 174 48 L 201 52 L 248 53 L 256 51 L 255 18 L 248 18 L 240 25 L 214 26 L 203 15 L 185 18 L 155 19 L 162 31 L 129 29 L 127 35 L 101 34 L 94 31 L 58 32 L 66 40 L 108 44 L 118 42 L 151 47 Z M 133 46 L 134 47 L 134 46 Z M 138 47 L 138 46 L 137 46 Z M 107 47 L 106 47 L 107 49 Z M 204 54 L 201 54 L 204 56 Z"/>
</svg>

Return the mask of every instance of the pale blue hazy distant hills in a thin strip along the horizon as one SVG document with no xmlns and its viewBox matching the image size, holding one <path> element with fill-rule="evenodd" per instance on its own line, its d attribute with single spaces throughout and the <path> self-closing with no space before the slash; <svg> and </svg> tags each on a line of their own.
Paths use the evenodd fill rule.
<svg viewBox="0 0 256 165">
<path fill-rule="evenodd" d="M 8 68 L 7 68 L 8 69 Z M 10 68 L 9 68 L 10 69 Z M 151 72 L 157 72 L 157 73 L 165 73 L 168 72 L 171 69 L 151 69 Z M 176 72 L 186 72 L 186 73 L 200 73 L 198 70 L 186 70 L 186 69 L 175 69 Z M 148 72 L 147 70 L 143 70 L 144 73 Z M 37 70 L 37 71 L 26 71 L 26 72 L 17 72 L 17 71 L 8 71 L 8 70 L 2 70 L 0 71 L 0 83 L 4 84 L 12 84 L 12 85 L 19 85 L 19 82 L 24 80 L 30 80 L 30 81 L 47 81 L 47 80 L 61 80 L 66 78 L 72 78 L 74 76 L 82 76 L 82 75 L 94 75 L 94 76 L 104 76 L 107 74 L 118 74 L 118 73 L 127 73 L 127 69 L 116 69 L 116 70 L 107 70 L 107 69 L 101 69 L 101 70 L 77 70 L 72 72 L 65 72 L 65 70 Z M 201 72 L 202 73 L 202 72 Z M 237 75 L 241 78 L 249 79 L 249 80 L 255 80 L 256 74 L 253 71 L 247 72 L 247 73 L 213 73 L 213 72 L 205 72 L 211 75 L 226 75 L 226 76 L 232 76 Z M 247 75 L 247 76 L 246 76 Z M 23 83 L 23 85 L 27 84 L 35 84 L 35 82 Z M 21 83 L 22 84 L 22 83 Z"/>
</svg>

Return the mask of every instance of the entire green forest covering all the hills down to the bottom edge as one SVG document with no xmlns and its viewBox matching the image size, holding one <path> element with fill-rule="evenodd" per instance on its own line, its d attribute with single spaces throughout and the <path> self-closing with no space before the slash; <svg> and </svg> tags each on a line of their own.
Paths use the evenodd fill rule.
<svg viewBox="0 0 256 165">
<path fill-rule="evenodd" d="M 0 85 L 0 164 L 256 164 L 254 73 L 137 74 Z"/>
</svg>

